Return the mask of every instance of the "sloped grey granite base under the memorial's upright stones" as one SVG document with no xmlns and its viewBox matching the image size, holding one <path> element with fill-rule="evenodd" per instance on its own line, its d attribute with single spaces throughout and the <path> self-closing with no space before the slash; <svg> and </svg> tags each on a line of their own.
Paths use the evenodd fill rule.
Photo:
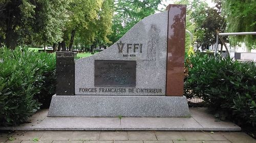
<svg viewBox="0 0 256 143">
<path fill-rule="evenodd" d="M 48 117 L 190 117 L 186 97 L 99 96 L 52 97 Z"/>
</svg>

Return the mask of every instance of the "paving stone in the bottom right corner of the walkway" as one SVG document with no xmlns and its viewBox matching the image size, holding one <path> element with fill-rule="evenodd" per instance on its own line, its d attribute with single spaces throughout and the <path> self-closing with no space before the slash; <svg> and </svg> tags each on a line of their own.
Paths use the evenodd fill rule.
<svg viewBox="0 0 256 143">
<path fill-rule="evenodd" d="M 232 143 L 256 143 L 256 139 L 253 139 L 244 132 L 223 132 L 221 134 Z"/>
</svg>

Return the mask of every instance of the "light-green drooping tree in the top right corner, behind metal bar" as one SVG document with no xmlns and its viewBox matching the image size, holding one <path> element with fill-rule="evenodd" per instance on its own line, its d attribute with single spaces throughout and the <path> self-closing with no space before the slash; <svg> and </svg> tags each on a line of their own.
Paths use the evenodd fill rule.
<svg viewBox="0 0 256 143">
<path fill-rule="evenodd" d="M 255 9 L 256 1 L 254 0 L 225 0 L 223 2 L 223 14 L 227 19 L 226 32 L 255 32 Z M 233 45 L 245 42 L 247 46 L 256 48 L 256 35 L 230 36 L 229 41 Z"/>
</svg>

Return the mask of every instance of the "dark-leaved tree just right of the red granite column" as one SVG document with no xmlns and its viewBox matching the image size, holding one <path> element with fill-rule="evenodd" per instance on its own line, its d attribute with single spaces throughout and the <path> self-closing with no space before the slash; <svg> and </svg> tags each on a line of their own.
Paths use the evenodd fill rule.
<svg viewBox="0 0 256 143">
<path fill-rule="evenodd" d="M 183 1 L 185 0 L 181 2 Z M 226 21 L 221 15 L 221 1 L 215 3 L 214 8 L 208 7 L 208 4 L 202 0 L 194 0 L 188 5 L 186 28 L 193 32 L 195 41 L 202 49 L 207 49 L 216 43 L 216 30 L 225 31 Z"/>
</svg>

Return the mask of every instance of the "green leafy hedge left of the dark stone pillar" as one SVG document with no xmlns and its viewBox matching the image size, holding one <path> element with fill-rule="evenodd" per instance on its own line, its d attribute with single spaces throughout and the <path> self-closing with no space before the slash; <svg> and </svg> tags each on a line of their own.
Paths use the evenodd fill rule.
<svg viewBox="0 0 256 143">
<path fill-rule="evenodd" d="M 49 102 L 55 92 L 55 62 L 54 54 L 0 48 L 1 125 L 23 123 Z"/>
</svg>

